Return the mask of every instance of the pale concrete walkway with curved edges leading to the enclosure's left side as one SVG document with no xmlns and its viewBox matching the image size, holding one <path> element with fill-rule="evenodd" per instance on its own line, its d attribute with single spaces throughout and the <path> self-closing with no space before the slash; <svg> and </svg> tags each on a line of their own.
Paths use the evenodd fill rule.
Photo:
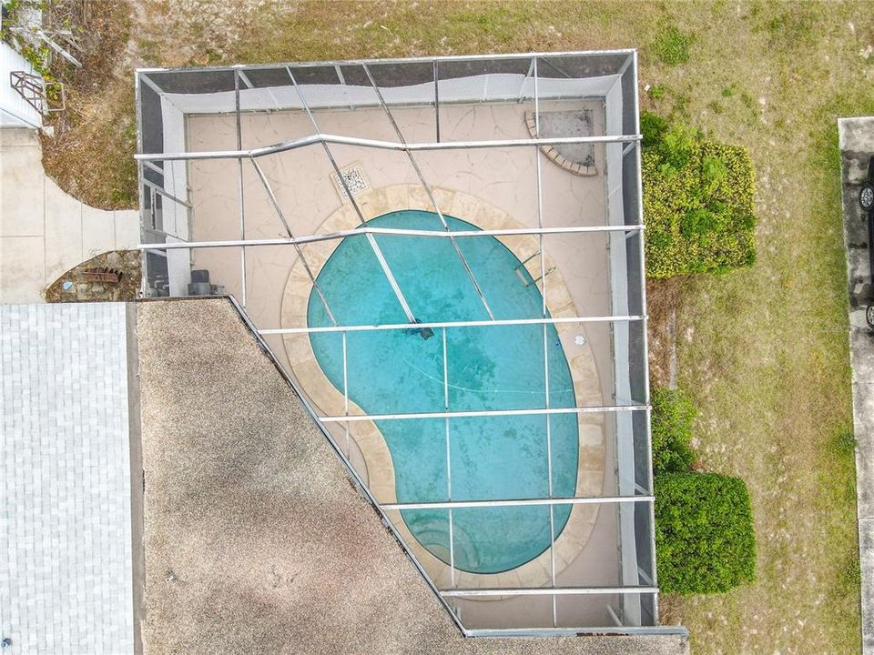
<svg viewBox="0 0 874 655">
<path fill-rule="evenodd" d="M 138 242 L 136 211 L 66 195 L 43 170 L 35 130 L 0 130 L 0 303 L 40 302 L 76 264 Z"/>
</svg>

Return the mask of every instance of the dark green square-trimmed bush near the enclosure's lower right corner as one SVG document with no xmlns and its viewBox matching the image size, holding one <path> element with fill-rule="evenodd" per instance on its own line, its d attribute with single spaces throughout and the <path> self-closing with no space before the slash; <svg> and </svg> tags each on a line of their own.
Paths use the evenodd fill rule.
<svg viewBox="0 0 874 655">
<path fill-rule="evenodd" d="M 655 479 L 655 551 L 666 593 L 722 593 L 756 578 L 747 485 L 716 473 Z"/>
</svg>

